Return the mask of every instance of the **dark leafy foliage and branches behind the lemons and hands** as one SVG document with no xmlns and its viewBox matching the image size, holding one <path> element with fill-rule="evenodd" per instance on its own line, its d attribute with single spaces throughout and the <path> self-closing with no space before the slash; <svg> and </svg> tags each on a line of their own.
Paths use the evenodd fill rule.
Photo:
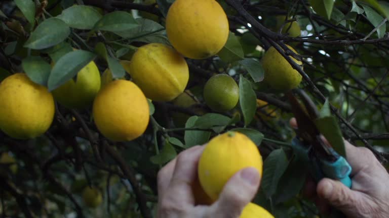
<svg viewBox="0 0 389 218">
<path fill-rule="evenodd" d="M 53 90 L 91 60 L 101 73 L 109 68 L 114 78 L 123 77 L 125 70 L 119 60 L 130 60 L 138 46 L 169 44 L 164 17 L 172 2 L 158 0 L 155 7 L 121 0 L 2 1 L 0 80 L 24 71 Z M 187 60 L 187 89 L 198 104 L 150 103 L 152 119 L 146 133 L 124 143 L 104 139 L 93 124 L 90 109 L 67 110 L 61 105 L 57 105 L 52 127 L 41 137 L 20 141 L 0 132 L 0 150 L 14 156 L 19 167 L 13 174 L 7 165 L 0 166 L 3 217 L 152 217 L 160 167 L 181 150 L 236 128 L 249 135 L 266 158 L 255 202 L 276 217 L 320 215 L 313 203 L 299 194 L 305 174 L 289 146 L 293 137 L 288 125 L 290 105 L 283 93 L 261 83 L 261 57 L 276 44 L 285 48 L 288 43 L 298 51 L 300 55 L 280 49 L 287 60 L 292 55 L 303 61 L 303 68 L 294 66 L 304 76 L 300 88 L 310 93 L 319 107 L 329 99 L 343 136 L 368 146 L 386 162 L 387 3 L 218 2 L 229 19 L 227 44 L 218 56 Z M 298 21 L 301 37 L 291 38 L 275 29 L 278 15 Z M 71 47 L 81 51 L 70 52 Z M 52 69 L 52 61 L 72 64 Z M 233 76 L 240 86 L 240 103 L 228 113 L 212 112 L 202 98 L 205 82 L 215 73 Z M 268 104 L 256 108 L 256 98 Z M 172 122 L 177 112 L 191 116 L 185 128 Z M 88 184 L 103 192 L 104 203 L 96 209 L 87 208 L 80 195 Z"/>
</svg>

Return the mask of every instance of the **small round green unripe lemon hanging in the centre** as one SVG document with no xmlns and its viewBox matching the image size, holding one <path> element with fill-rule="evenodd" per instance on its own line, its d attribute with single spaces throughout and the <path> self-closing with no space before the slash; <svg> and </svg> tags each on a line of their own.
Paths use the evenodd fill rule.
<svg viewBox="0 0 389 218">
<path fill-rule="evenodd" d="M 234 108 L 239 100 L 239 87 L 232 77 L 217 74 L 204 86 L 204 100 L 214 111 L 225 112 Z"/>
</svg>

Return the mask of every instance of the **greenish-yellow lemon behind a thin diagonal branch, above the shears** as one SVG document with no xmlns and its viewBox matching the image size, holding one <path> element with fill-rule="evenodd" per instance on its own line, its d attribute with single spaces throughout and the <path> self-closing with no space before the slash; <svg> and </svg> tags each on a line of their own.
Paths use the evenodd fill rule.
<svg viewBox="0 0 389 218">
<path fill-rule="evenodd" d="M 287 46 L 296 52 L 291 46 Z M 292 60 L 298 65 L 302 64 L 294 58 Z M 273 46 L 266 51 L 262 58 L 262 64 L 265 72 L 263 82 L 271 89 L 287 91 L 296 88 L 301 82 L 302 76 L 293 69 Z"/>
</svg>

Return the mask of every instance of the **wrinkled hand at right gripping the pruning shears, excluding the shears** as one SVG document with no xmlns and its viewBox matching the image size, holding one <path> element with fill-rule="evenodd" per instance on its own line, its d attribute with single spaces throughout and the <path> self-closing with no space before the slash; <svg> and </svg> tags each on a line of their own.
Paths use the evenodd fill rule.
<svg viewBox="0 0 389 218">
<path fill-rule="evenodd" d="M 290 125 L 297 128 L 296 120 L 292 119 Z M 389 174 L 369 149 L 355 147 L 347 141 L 345 149 L 346 159 L 353 168 L 352 188 L 327 178 L 318 184 L 308 179 L 304 195 L 313 199 L 322 212 L 329 211 L 332 205 L 347 217 L 389 217 Z"/>
</svg>

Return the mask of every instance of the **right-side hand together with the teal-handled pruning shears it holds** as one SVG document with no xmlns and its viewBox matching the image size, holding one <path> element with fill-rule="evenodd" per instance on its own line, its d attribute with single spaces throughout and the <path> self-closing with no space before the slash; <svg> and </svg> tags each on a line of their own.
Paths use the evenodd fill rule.
<svg viewBox="0 0 389 218">
<path fill-rule="evenodd" d="M 307 181 L 303 193 L 322 212 L 331 211 L 330 217 L 388 217 L 389 175 L 374 154 L 344 141 L 344 159 L 316 127 L 318 112 L 312 100 L 299 92 L 302 106 L 293 93 L 288 96 L 296 117 L 290 122 L 297 133 L 292 142 L 296 157 L 306 161 L 315 180 Z M 340 212 L 334 212 L 330 206 Z"/>
</svg>

